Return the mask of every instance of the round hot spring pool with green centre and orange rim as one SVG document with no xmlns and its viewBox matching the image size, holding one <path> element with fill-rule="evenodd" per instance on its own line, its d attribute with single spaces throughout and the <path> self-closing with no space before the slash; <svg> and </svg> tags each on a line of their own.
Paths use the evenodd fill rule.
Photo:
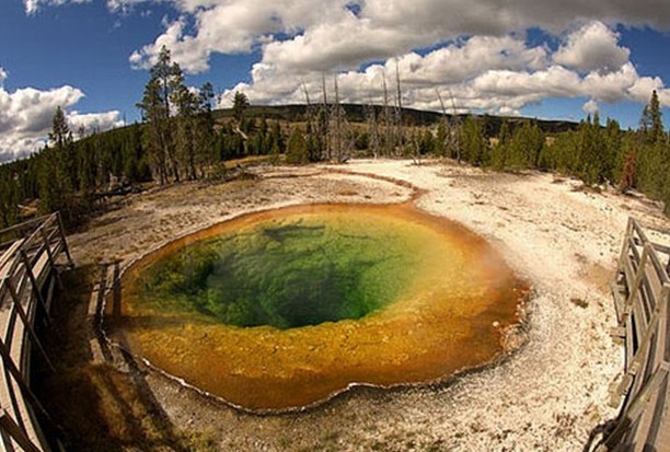
<svg viewBox="0 0 670 452">
<path fill-rule="evenodd" d="M 486 242 L 411 205 L 243 216 L 148 255 L 122 288 L 113 338 L 252 410 L 488 362 L 493 323 L 527 292 Z"/>
</svg>

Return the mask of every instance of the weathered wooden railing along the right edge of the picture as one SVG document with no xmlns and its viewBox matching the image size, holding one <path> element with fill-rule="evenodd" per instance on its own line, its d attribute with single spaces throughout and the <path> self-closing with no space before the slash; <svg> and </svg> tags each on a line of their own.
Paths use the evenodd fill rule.
<svg viewBox="0 0 670 452">
<path fill-rule="evenodd" d="M 634 219 L 628 220 L 612 293 L 619 318 L 614 334 L 625 339 L 626 350 L 614 396 L 625 398 L 598 450 L 660 451 L 661 444 L 670 445 L 670 247 L 650 241 Z"/>
</svg>

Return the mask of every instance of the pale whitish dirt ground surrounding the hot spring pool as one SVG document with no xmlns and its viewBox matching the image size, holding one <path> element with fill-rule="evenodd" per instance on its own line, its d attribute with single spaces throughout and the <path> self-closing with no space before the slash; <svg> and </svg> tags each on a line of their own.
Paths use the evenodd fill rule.
<svg viewBox="0 0 670 452">
<path fill-rule="evenodd" d="M 610 189 L 585 190 L 577 181 L 553 175 L 486 173 L 451 162 L 417 166 L 411 161 L 354 161 L 250 171 L 255 178 L 182 184 L 125 198 L 68 237 L 80 271 L 113 260 L 127 268 L 177 236 L 244 212 L 414 197 L 420 209 L 485 237 L 532 283 L 527 343 L 495 366 L 442 384 L 391 391 L 357 387 L 316 408 L 268 416 L 230 408 L 141 364 L 124 367 L 125 373 L 99 370 L 96 375 L 118 373 L 119 379 L 127 375 L 128 382 L 141 383 L 137 397 L 150 401 L 147 406 L 130 404 L 126 412 L 119 408 L 132 413 L 130 418 L 140 417 L 122 424 L 141 431 L 153 417 L 161 419 L 154 429 L 158 440 L 134 443 L 128 429 L 117 428 L 117 433 L 105 425 L 111 421 L 102 406 L 105 397 L 99 394 L 102 402 L 86 409 L 100 415 L 95 421 L 108 433 L 101 441 L 115 441 L 113 450 L 576 451 L 597 425 L 615 415 L 608 405 L 609 387 L 621 378 L 623 347 L 609 335 L 615 315 L 608 283 L 627 218 L 670 228 L 660 206 Z M 84 299 L 66 302 L 70 318 L 81 320 L 72 313 L 81 311 Z M 88 369 L 86 355 L 77 352 L 85 340 L 63 340 L 63 366 Z M 100 375 L 88 380 L 99 381 Z M 132 387 L 128 382 L 112 383 Z M 82 395 L 77 385 L 71 387 L 70 399 Z M 86 395 L 100 393 L 95 387 L 88 387 Z M 78 422 L 73 418 L 74 426 L 63 427 L 81 438 L 72 434 Z"/>
</svg>

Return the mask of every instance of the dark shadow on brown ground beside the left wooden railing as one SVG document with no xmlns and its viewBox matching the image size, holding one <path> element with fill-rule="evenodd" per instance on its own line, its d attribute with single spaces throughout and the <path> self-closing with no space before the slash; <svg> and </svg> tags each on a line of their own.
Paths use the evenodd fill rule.
<svg viewBox="0 0 670 452">
<path fill-rule="evenodd" d="M 36 359 L 37 396 L 58 425 L 68 451 L 209 451 L 212 440 L 178 429 L 169 419 L 135 361 L 124 371 L 94 364 L 89 348 L 88 302 L 99 267 L 62 274 L 53 305 L 53 326 L 43 328 L 56 372 Z M 51 432 L 53 433 L 53 432 Z"/>
</svg>

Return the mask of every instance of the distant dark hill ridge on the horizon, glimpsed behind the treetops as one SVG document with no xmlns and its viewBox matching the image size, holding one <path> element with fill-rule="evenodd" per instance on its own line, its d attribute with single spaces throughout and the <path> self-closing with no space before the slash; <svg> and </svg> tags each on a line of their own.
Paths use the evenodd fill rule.
<svg viewBox="0 0 670 452">
<path fill-rule="evenodd" d="M 312 108 L 320 108 L 320 104 L 315 104 L 311 106 Z M 328 108 L 332 108 L 333 105 L 328 105 Z M 382 105 L 360 105 L 360 104 L 340 104 L 340 107 L 344 109 L 346 119 L 349 123 L 366 123 L 370 116 L 370 109 L 373 108 L 374 115 L 377 117 L 382 116 L 383 106 Z M 304 104 L 299 105 L 251 105 L 246 109 L 246 115 L 252 118 L 257 119 L 272 119 L 272 120 L 280 120 L 286 123 L 301 123 L 305 120 L 308 106 Z M 213 112 L 215 118 L 217 119 L 226 119 L 232 118 L 234 116 L 234 112 L 232 108 L 226 109 L 217 109 Z M 464 121 L 469 115 L 461 114 L 458 115 L 461 121 Z M 402 117 L 407 125 L 413 126 L 430 126 L 437 125 L 443 118 L 452 121 L 454 115 L 447 113 L 446 115 L 438 112 L 430 111 L 421 111 L 414 108 L 403 108 Z M 507 121 L 513 128 L 517 125 L 521 125 L 524 120 L 535 120 L 532 118 L 523 118 L 519 116 L 490 116 L 483 115 L 484 124 L 486 125 L 486 132 L 488 136 L 498 136 L 500 126 L 503 123 Z M 579 126 L 579 123 L 573 123 L 567 120 L 547 120 L 547 119 L 536 119 L 540 129 L 545 134 L 559 134 L 568 130 L 576 130 Z"/>
</svg>

